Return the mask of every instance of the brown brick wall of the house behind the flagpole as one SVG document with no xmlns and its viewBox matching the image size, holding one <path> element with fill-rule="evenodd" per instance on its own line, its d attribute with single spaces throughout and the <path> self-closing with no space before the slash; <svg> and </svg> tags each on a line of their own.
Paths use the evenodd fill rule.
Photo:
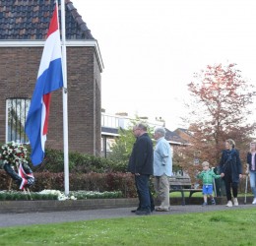
<svg viewBox="0 0 256 246">
<path fill-rule="evenodd" d="M 32 97 L 42 47 L 0 48 L 0 142 L 6 99 Z M 100 72 L 95 47 L 67 47 L 69 151 L 100 154 Z M 63 150 L 62 91 L 52 92 L 46 148 Z"/>
</svg>

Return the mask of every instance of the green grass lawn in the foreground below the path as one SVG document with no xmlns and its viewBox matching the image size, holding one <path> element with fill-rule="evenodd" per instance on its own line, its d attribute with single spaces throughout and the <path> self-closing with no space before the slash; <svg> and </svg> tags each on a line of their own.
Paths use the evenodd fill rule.
<svg viewBox="0 0 256 246">
<path fill-rule="evenodd" d="M 255 245 L 256 209 L 0 228 L 0 245 Z"/>
</svg>

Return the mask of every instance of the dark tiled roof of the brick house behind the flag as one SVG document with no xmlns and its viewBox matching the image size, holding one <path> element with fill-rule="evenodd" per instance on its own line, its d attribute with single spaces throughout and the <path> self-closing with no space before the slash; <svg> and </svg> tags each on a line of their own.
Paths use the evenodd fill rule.
<svg viewBox="0 0 256 246">
<path fill-rule="evenodd" d="M 55 0 L 1 0 L 0 39 L 45 39 Z M 66 39 L 95 39 L 70 0 L 66 4 Z M 61 27 L 60 8 L 59 20 Z M 61 31 L 61 29 L 60 29 Z"/>
</svg>

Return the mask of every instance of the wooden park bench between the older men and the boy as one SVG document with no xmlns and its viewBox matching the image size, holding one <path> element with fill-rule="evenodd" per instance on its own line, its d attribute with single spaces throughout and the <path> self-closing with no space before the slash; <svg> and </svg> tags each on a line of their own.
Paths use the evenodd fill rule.
<svg viewBox="0 0 256 246">
<path fill-rule="evenodd" d="M 169 193 L 171 192 L 181 193 L 182 205 L 184 206 L 186 204 L 184 192 L 189 192 L 188 201 L 190 201 L 192 195 L 196 192 L 202 192 L 202 189 L 192 188 L 192 183 L 189 176 L 171 176 L 169 177 Z"/>
</svg>

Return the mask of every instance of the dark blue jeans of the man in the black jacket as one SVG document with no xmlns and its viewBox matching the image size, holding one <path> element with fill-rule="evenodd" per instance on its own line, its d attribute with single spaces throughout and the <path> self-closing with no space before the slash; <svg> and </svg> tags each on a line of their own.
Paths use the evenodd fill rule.
<svg viewBox="0 0 256 246">
<path fill-rule="evenodd" d="M 140 201 L 140 210 L 147 212 L 151 212 L 149 180 L 150 175 L 135 175 L 135 185 Z"/>
</svg>

